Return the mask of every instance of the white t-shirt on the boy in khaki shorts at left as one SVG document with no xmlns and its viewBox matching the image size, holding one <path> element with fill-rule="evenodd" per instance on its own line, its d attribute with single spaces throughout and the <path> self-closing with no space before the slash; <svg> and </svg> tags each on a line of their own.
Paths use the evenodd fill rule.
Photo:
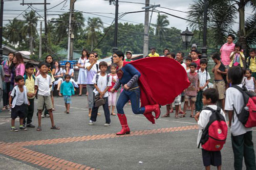
<svg viewBox="0 0 256 170">
<path fill-rule="evenodd" d="M 38 86 L 38 94 L 40 95 L 51 95 L 50 85 L 52 85 L 52 80 L 49 75 L 46 78 L 41 75 L 35 78 L 35 86 Z"/>
</svg>

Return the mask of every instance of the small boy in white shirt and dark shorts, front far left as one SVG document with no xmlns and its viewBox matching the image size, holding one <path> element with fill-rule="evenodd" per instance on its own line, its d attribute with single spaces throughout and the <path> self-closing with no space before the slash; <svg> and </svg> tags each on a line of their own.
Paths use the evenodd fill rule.
<svg viewBox="0 0 256 170">
<path fill-rule="evenodd" d="M 26 105 L 29 105 L 28 98 L 27 98 L 27 88 L 24 82 L 24 77 L 16 76 L 15 77 L 15 86 L 11 92 L 9 98 L 9 105 L 12 108 L 11 118 L 12 118 L 12 127 L 11 131 L 17 132 L 18 129 L 15 128 L 15 118 L 19 116 L 19 129 L 20 130 L 28 130 L 23 126 L 23 120 L 26 116 Z"/>
</svg>

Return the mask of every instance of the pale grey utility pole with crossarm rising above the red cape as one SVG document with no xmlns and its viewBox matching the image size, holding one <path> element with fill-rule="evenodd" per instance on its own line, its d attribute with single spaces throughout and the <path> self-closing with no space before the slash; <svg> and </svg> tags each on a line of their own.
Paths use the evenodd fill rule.
<svg viewBox="0 0 256 170">
<path fill-rule="evenodd" d="M 160 5 L 151 5 L 150 6 L 150 0 L 146 0 L 145 7 L 142 8 L 142 9 L 145 9 L 143 57 L 145 57 L 148 54 L 148 39 L 149 39 L 148 34 L 150 31 L 150 23 L 151 23 L 151 19 L 152 19 L 153 10 L 156 7 L 160 7 Z M 150 17 L 150 9 L 151 8 L 153 8 L 153 10 L 152 10 L 151 17 Z M 148 22 L 149 17 L 150 17 L 150 22 Z"/>
</svg>

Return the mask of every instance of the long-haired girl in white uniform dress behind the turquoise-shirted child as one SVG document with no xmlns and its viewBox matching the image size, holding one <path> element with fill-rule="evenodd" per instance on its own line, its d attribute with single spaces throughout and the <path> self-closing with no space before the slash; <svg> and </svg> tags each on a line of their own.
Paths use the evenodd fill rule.
<svg viewBox="0 0 256 170">
<path fill-rule="evenodd" d="M 79 58 L 77 66 L 79 67 L 79 74 L 77 84 L 79 84 L 79 96 L 82 95 L 82 87 L 86 84 L 86 71 L 84 71 L 84 64 L 89 62 L 87 50 L 82 50 L 82 57 Z"/>
</svg>

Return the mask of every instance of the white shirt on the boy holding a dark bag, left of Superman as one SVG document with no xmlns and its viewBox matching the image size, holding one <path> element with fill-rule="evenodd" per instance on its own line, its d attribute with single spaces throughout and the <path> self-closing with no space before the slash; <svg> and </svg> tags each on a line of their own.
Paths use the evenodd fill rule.
<svg viewBox="0 0 256 170">
<path fill-rule="evenodd" d="M 98 73 L 98 75 L 99 75 L 99 79 L 97 82 L 97 86 L 98 86 L 99 90 L 103 92 L 106 88 L 106 80 L 107 80 L 108 75 L 106 74 L 105 76 L 101 76 L 100 73 Z M 93 84 L 96 84 L 96 76 L 97 76 L 97 74 L 95 74 L 93 77 L 93 80 L 92 80 Z M 111 81 L 109 80 L 108 86 L 111 86 L 111 85 L 112 85 Z M 93 92 L 95 93 L 95 95 L 99 94 L 99 92 L 96 90 L 96 88 L 93 90 Z M 103 98 L 106 98 L 108 96 L 109 96 L 109 92 L 106 91 Z"/>
</svg>

